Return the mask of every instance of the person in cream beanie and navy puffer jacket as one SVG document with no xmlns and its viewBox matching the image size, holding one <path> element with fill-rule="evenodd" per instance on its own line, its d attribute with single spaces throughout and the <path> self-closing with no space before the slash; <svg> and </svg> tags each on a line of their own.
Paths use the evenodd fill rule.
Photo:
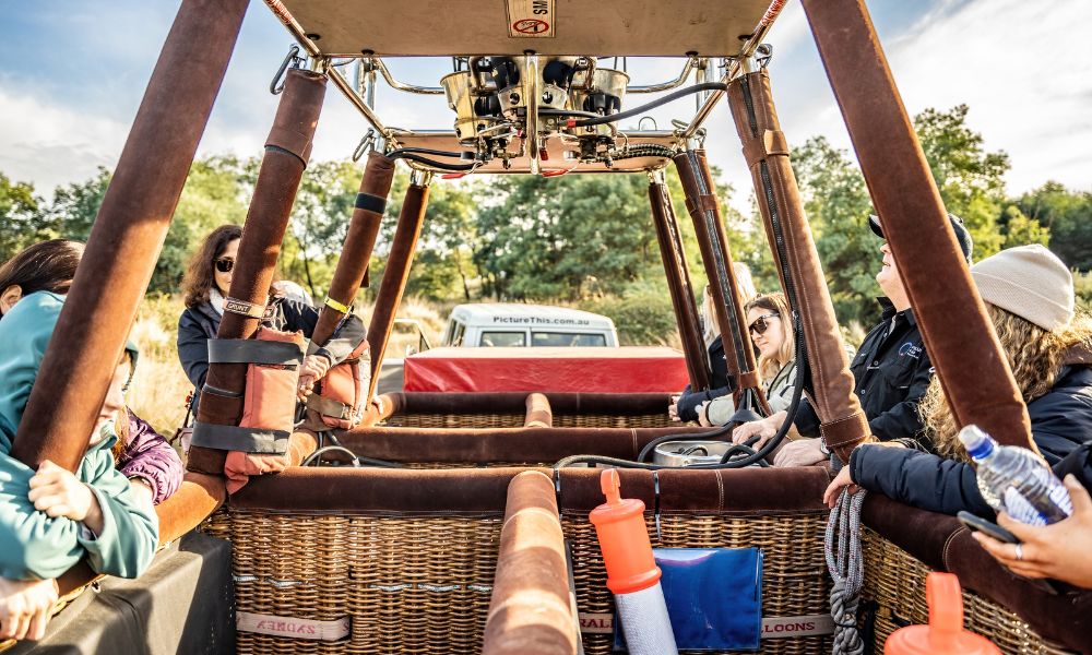
<svg viewBox="0 0 1092 655">
<path fill-rule="evenodd" d="M 1048 464 L 1059 465 L 1092 441 L 1092 322 L 1075 314 L 1072 276 L 1037 245 L 987 258 L 971 276 L 1028 404 L 1032 439 Z M 923 398 L 922 418 L 935 453 L 858 446 L 824 499 L 833 502 L 856 484 L 923 510 L 993 516 L 938 380 Z"/>
</svg>

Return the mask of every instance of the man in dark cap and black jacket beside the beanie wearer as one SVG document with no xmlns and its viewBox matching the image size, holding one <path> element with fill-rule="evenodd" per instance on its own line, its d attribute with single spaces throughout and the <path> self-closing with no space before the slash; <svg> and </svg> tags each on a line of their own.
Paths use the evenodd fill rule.
<svg viewBox="0 0 1092 655">
<path fill-rule="evenodd" d="M 948 215 L 956 240 L 963 257 L 970 261 L 973 245 L 963 222 Z M 879 237 L 883 230 L 878 217 L 869 219 L 869 228 Z M 917 329 L 917 319 L 910 307 L 910 295 L 902 284 L 891 249 L 880 246 L 882 265 L 876 282 L 883 290 L 877 298 L 882 310 L 881 320 L 860 343 L 856 357 L 850 362 L 853 391 L 860 401 L 860 408 L 868 419 L 868 427 L 877 439 L 900 442 L 911 448 L 924 448 L 924 427 L 918 415 L 918 402 L 933 379 L 933 364 L 925 350 L 925 341 Z M 760 443 L 773 437 L 785 421 L 787 413 L 776 412 L 769 418 L 744 424 L 732 433 L 734 443 L 744 443 L 758 436 Z M 803 437 L 785 444 L 774 458 L 775 466 L 810 466 L 830 456 L 819 437 L 819 416 L 807 400 L 800 401 L 794 427 Z"/>
</svg>

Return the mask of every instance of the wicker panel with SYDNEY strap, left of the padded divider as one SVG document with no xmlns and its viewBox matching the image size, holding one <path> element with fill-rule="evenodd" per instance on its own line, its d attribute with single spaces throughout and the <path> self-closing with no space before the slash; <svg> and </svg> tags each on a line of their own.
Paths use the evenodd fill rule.
<svg viewBox="0 0 1092 655">
<path fill-rule="evenodd" d="M 475 653 L 502 515 L 327 516 L 221 510 L 237 610 L 352 618 L 334 643 L 239 632 L 238 653 Z"/>
</svg>

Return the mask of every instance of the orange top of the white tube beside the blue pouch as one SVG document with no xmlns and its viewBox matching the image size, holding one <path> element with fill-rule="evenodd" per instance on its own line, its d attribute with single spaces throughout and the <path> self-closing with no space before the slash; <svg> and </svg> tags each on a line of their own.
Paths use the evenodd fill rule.
<svg viewBox="0 0 1092 655">
<path fill-rule="evenodd" d="M 644 523 L 644 503 L 621 497 L 621 480 L 615 468 L 600 475 L 600 487 L 607 501 L 592 510 L 589 519 L 603 550 L 607 588 L 615 594 L 649 588 L 660 581 L 660 568 Z"/>
</svg>

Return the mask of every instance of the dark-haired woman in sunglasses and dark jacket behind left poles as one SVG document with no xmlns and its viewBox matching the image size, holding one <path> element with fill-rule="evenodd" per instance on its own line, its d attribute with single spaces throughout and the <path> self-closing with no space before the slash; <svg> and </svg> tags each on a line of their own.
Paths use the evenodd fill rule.
<svg viewBox="0 0 1092 655">
<path fill-rule="evenodd" d="M 195 390 L 191 404 L 194 410 L 209 373 L 209 340 L 215 338 L 219 330 L 241 237 L 242 228 L 238 225 L 214 229 L 190 259 L 182 279 L 186 310 L 178 319 L 178 359 Z M 266 326 L 287 332 L 301 330 L 310 338 L 319 320 L 313 307 L 287 298 L 274 298 L 272 303 L 275 311 L 265 321 Z M 366 335 L 364 322 L 353 313 L 347 314 L 325 346 L 304 358 L 299 367 L 300 389 L 309 390 L 330 367 L 348 357 Z"/>
</svg>

